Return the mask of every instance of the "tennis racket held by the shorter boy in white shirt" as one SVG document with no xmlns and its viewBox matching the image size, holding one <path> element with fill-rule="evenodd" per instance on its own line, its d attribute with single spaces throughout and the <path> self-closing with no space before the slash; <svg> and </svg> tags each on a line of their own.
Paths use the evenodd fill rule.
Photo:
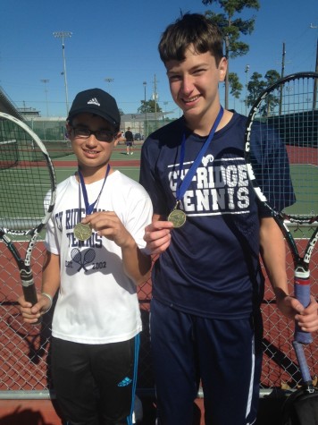
<svg viewBox="0 0 318 425">
<path fill-rule="evenodd" d="M 55 187 L 52 161 L 37 134 L 15 117 L 0 113 L 0 241 L 12 253 L 24 298 L 32 305 L 38 302 L 32 251 L 53 211 Z M 24 259 L 18 238 L 28 243 Z"/>
</svg>

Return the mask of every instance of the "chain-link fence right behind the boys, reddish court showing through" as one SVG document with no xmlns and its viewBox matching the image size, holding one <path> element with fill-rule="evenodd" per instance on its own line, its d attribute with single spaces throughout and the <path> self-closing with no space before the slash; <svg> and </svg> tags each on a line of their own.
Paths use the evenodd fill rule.
<svg viewBox="0 0 318 425">
<path fill-rule="evenodd" d="M 299 233 L 299 229 L 297 229 Z M 305 242 L 305 241 L 303 241 Z M 301 242 L 300 244 L 302 244 Z M 24 243 L 25 245 L 25 243 Z M 22 247 L 25 249 L 25 246 Z M 38 242 L 33 255 L 33 271 L 36 285 L 40 287 L 43 243 Z M 312 293 L 318 294 L 318 254 L 312 259 Z M 288 256 L 290 285 L 293 281 L 292 259 Z M 50 327 L 52 310 L 47 313 L 39 326 L 23 323 L 17 298 L 21 294 L 19 273 L 10 252 L 0 244 L 0 397 L 40 398 L 52 390 L 50 381 Z M 144 325 L 141 335 L 141 349 L 138 368 L 138 389 L 153 391 L 154 378 L 150 357 L 149 303 L 151 283 L 138 289 L 140 310 Z M 301 377 L 297 360 L 290 344 L 293 337 L 293 323 L 277 312 L 274 296 L 267 283 L 263 302 L 264 315 L 264 366 L 261 388 L 297 387 Z M 306 359 L 312 376 L 318 375 L 317 333 L 314 342 L 305 346 Z M 239 381 L 238 381 L 239 388 Z M 27 395 L 27 396 L 26 396 Z"/>
</svg>

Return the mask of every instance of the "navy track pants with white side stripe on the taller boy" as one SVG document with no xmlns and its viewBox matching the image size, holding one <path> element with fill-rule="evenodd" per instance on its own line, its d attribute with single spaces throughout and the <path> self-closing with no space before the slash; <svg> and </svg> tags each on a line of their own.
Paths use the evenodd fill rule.
<svg viewBox="0 0 318 425">
<path fill-rule="evenodd" d="M 160 425 L 192 425 L 199 384 L 205 425 L 256 420 L 262 317 L 205 319 L 152 300 L 150 335 Z"/>
</svg>

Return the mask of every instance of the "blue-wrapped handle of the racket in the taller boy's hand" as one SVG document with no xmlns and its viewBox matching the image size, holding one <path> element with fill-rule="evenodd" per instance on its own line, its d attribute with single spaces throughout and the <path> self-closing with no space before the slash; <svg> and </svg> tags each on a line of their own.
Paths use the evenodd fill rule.
<svg viewBox="0 0 318 425">
<path fill-rule="evenodd" d="M 295 272 L 295 297 L 299 302 L 307 307 L 310 303 L 310 272 L 296 271 Z M 297 323 L 295 324 L 295 341 L 300 344 L 310 344 L 313 342 L 313 337 L 309 332 L 301 330 Z"/>
</svg>

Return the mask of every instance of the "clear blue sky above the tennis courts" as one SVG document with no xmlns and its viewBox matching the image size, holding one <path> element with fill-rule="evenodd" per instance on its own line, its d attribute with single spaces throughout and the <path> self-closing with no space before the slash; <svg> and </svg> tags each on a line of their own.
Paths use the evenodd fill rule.
<svg viewBox="0 0 318 425">
<path fill-rule="evenodd" d="M 244 85 L 253 72 L 314 71 L 318 39 L 317 0 L 260 0 L 260 9 L 245 9 L 234 18 L 255 17 L 255 30 L 241 40 L 247 55 L 230 60 Z M 171 118 L 180 116 L 173 103 L 164 66 L 158 55 L 163 30 L 182 13 L 222 12 L 217 2 L 201 0 L 3 0 L 0 26 L 0 86 L 18 107 L 42 116 L 65 116 L 62 38 L 64 38 L 69 107 L 84 89 L 101 88 L 116 98 L 124 114 L 136 114 L 141 100 L 154 96 Z M 248 65 L 248 72 L 247 70 Z M 105 81 L 111 80 L 111 81 Z M 46 82 L 45 82 L 46 81 Z M 146 82 L 146 84 L 144 84 Z M 224 101 L 224 89 L 221 101 Z M 243 101 L 230 107 L 245 114 Z"/>
</svg>

